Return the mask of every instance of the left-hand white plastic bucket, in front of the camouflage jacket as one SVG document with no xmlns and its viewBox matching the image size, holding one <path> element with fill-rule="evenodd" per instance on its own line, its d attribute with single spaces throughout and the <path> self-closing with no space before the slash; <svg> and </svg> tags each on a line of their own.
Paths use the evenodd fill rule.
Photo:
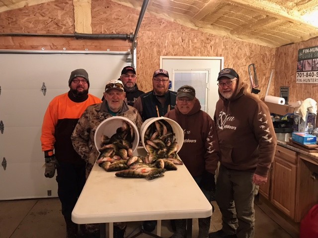
<svg viewBox="0 0 318 238">
<path fill-rule="evenodd" d="M 123 125 L 123 120 L 126 121 L 130 126 L 134 128 L 135 132 L 135 139 L 133 141 L 133 151 L 137 149 L 137 146 L 139 144 L 139 131 L 136 126 L 136 124 L 127 118 L 124 117 L 111 117 L 103 120 L 96 128 L 95 135 L 94 135 L 94 142 L 97 150 L 99 151 L 101 148 L 101 136 L 107 135 L 108 137 L 111 137 L 113 134 L 116 133 L 116 130 L 118 127 L 121 127 Z M 100 152 L 100 151 L 99 151 Z"/>
</svg>

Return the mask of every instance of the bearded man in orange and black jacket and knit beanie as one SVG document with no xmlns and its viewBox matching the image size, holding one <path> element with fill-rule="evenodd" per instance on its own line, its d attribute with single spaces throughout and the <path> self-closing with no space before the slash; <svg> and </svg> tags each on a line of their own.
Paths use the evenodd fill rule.
<svg viewBox="0 0 318 238">
<path fill-rule="evenodd" d="M 85 184 L 85 161 L 74 150 L 71 135 L 84 110 L 100 99 L 88 94 L 86 70 L 71 72 L 70 91 L 55 97 L 49 104 L 42 124 L 41 144 L 45 157 L 45 177 L 53 178 L 57 170 L 58 195 L 66 222 L 68 238 L 75 238 L 78 225 L 71 215 Z M 80 226 L 81 230 L 84 226 Z"/>
</svg>

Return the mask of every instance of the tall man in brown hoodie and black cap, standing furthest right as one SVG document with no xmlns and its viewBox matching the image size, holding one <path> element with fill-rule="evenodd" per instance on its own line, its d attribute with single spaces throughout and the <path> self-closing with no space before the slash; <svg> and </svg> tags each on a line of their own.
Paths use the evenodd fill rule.
<svg viewBox="0 0 318 238">
<path fill-rule="evenodd" d="M 246 92 L 233 68 L 218 76 L 220 99 L 216 122 L 220 145 L 220 168 L 216 201 L 222 213 L 222 230 L 210 238 L 253 238 L 254 195 L 274 159 L 276 135 L 268 107 Z"/>
</svg>

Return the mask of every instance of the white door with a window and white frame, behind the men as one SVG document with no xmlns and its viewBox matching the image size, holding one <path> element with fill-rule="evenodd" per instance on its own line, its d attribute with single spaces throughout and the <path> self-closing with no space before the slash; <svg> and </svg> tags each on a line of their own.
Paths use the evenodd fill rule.
<svg viewBox="0 0 318 238">
<path fill-rule="evenodd" d="M 196 90 L 196 96 L 201 98 L 200 103 L 203 106 L 204 111 L 206 111 L 212 118 L 214 116 L 215 105 L 219 100 L 217 78 L 218 73 L 224 66 L 223 57 L 160 57 L 160 68 L 163 68 L 169 72 L 170 80 L 172 81 L 171 90 L 176 91 L 181 84 L 190 84 Z M 192 74 L 192 79 L 189 77 L 183 81 L 179 80 L 180 73 Z M 201 75 L 200 82 L 196 82 L 195 78 L 199 73 L 205 73 L 207 76 L 205 85 L 201 83 L 204 75 Z M 176 77 L 177 76 L 177 77 Z M 177 78 L 177 80 L 175 80 Z M 177 87 L 176 87 L 177 86 Z M 206 95 L 203 101 L 203 95 Z M 204 105 L 202 103 L 204 102 Z"/>
</svg>

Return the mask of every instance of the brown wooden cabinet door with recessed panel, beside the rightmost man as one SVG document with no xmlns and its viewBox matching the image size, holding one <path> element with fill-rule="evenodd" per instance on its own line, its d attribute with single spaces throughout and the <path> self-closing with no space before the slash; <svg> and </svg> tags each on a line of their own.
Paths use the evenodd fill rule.
<svg viewBox="0 0 318 238">
<path fill-rule="evenodd" d="M 272 203 L 285 214 L 294 218 L 296 200 L 297 166 L 275 155 L 271 189 Z"/>
</svg>

